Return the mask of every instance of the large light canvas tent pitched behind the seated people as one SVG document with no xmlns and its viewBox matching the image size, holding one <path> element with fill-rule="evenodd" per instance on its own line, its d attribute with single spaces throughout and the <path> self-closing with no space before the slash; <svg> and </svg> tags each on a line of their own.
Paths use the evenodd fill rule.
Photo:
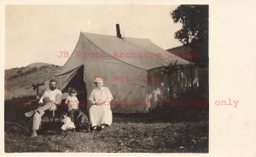
<svg viewBox="0 0 256 157">
<path fill-rule="evenodd" d="M 80 102 L 86 102 L 95 88 L 94 79 L 102 77 L 113 94 L 113 113 L 147 113 L 170 98 L 170 76 L 164 71 L 170 65 L 189 65 L 189 61 L 170 55 L 149 39 L 80 32 L 72 55 L 55 78 L 62 92 L 74 86 L 84 95 Z"/>
</svg>

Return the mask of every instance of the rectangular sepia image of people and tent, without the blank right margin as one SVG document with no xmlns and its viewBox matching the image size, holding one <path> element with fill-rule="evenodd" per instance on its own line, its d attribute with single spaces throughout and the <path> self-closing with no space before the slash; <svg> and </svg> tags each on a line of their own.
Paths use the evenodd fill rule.
<svg viewBox="0 0 256 157">
<path fill-rule="evenodd" d="M 5 5 L 4 152 L 209 152 L 209 6 Z"/>
</svg>

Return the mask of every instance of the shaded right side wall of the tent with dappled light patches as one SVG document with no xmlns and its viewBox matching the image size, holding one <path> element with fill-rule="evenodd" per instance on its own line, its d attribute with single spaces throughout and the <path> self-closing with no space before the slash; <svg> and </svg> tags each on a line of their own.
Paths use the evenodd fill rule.
<svg viewBox="0 0 256 157">
<path fill-rule="evenodd" d="M 198 69 L 193 65 L 176 65 L 148 71 L 150 109 L 168 108 L 172 101 L 191 101 L 199 90 Z M 189 96 L 190 95 L 190 96 Z"/>
</svg>

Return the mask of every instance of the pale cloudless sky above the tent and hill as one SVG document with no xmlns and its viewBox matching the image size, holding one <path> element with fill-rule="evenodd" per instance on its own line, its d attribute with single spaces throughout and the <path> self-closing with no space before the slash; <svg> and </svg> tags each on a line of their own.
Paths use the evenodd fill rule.
<svg viewBox="0 0 256 157">
<path fill-rule="evenodd" d="M 174 32 L 181 28 L 170 16 L 177 5 L 9 5 L 5 8 L 5 69 L 33 62 L 64 65 L 79 33 L 149 38 L 163 49 L 181 45 Z"/>
</svg>

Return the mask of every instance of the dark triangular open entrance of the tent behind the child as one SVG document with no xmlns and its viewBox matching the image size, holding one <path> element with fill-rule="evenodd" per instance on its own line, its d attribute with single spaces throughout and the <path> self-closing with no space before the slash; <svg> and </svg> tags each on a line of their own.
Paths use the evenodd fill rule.
<svg viewBox="0 0 256 157">
<path fill-rule="evenodd" d="M 68 88 L 73 87 L 78 92 L 79 99 L 79 109 L 83 111 L 87 111 L 87 92 L 86 92 L 86 84 L 84 82 L 84 66 L 79 67 L 78 72 L 73 76 L 73 78 L 69 81 L 67 86 L 65 87 L 63 92 L 68 93 Z"/>
</svg>

